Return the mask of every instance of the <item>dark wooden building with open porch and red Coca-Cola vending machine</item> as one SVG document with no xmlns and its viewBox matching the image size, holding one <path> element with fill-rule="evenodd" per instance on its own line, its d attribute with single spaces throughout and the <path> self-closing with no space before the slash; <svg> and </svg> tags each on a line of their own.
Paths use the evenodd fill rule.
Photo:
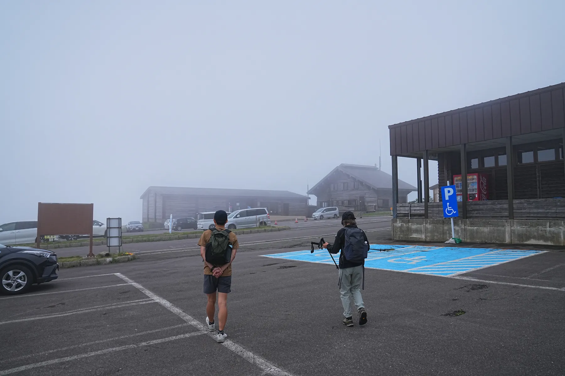
<svg viewBox="0 0 565 376">
<path fill-rule="evenodd" d="M 437 160 L 440 187 L 453 184 L 457 175 L 481 176 L 478 187 L 473 180 L 468 185 L 467 179 L 457 178 L 457 237 L 565 245 L 564 89 L 560 83 L 389 126 L 393 193 L 399 192 L 398 157 L 415 158 L 415 167 L 422 162 L 424 167 L 420 204 L 401 204 L 396 196 L 393 200 L 393 238 L 450 237 L 441 202 L 428 203 L 427 162 Z M 416 173 L 420 180 L 420 168 Z M 463 199 L 478 198 L 477 189 L 483 200 Z"/>
</svg>

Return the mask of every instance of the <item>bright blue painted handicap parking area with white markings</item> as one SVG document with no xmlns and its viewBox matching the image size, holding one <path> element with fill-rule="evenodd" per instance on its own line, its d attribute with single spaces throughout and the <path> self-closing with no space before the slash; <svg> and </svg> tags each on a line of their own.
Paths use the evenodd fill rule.
<svg viewBox="0 0 565 376">
<path fill-rule="evenodd" d="M 545 252 L 518 249 L 372 244 L 365 260 L 365 267 L 447 277 Z M 338 255 L 334 255 L 336 262 Z M 332 258 L 327 250 L 316 250 L 314 253 L 310 253 L 310 250 L 293 251 L 264 256 L 333 265 Z"/>
</svg>

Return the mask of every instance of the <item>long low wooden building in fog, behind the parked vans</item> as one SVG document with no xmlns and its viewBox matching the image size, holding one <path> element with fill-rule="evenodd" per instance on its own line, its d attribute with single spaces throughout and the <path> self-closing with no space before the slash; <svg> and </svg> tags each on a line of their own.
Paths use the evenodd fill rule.
<svg viewBox="0 0 565 376">
<path fill-rule="evenodd" d="M 273 215 L 304 216 L 308 211 L 308 196 L 289 191 L 259 189 L 149 187 L 143 200 L 143 222 L 164 222 L 205 211 L 234 211 L 250 207 L 266 207 Z"/>
</svg>

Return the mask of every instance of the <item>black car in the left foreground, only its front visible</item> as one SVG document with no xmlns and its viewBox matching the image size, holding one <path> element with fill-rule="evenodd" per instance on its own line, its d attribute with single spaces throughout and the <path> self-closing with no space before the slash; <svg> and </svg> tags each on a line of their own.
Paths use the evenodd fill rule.
<svg viewBox="0 0 565 376">
<path fill-rule="evenodd" d="M 0 294 L 23 294 L 32 284 L 55 280 L 58 270 L 57 255 L 52 251 L 0 244 Z"/>
</svg>

